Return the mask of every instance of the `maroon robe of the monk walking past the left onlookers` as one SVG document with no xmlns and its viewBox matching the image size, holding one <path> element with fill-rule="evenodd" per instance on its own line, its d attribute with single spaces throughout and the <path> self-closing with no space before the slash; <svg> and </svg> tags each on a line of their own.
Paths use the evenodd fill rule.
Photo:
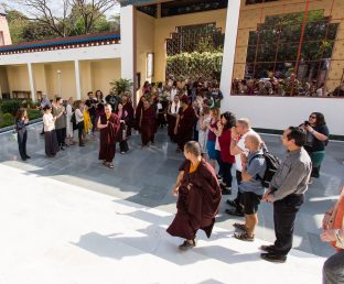
<svg viewBox="0 0 344 284">
<path fill-rule="evenodd" d="M 101 124 L 107 123 L 106 114 L 101 114 L 99 118 Z M 116 153 L 116 142 L 118 140 L 120 122 L 119 118 L 115 113 L 111 113 L 108 121 L 108 127 L 100 129 L 99 160 L 105 160 L 108 163 L 112 163 Z"/>
</svg>

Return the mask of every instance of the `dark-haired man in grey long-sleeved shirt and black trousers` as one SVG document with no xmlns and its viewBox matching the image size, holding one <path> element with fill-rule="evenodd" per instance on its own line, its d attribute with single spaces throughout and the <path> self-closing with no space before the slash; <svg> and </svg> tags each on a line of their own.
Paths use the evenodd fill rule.
<svg viewBox="0 0 344 284">
<path fill-rule="evenodd" d="M 305 130 L 290 127 L 282 135 L 288 155 L 277 168 L 264 200 L 273 204 L 276 241 L 272 245 L 261 245 L 261 259 L 283 263 L 292 248 L 293 229 L 297 214 L 304 201 L 304 193 L 312 171 L 312 162 L 303 149 L 307 141 Z"/>
</svg>

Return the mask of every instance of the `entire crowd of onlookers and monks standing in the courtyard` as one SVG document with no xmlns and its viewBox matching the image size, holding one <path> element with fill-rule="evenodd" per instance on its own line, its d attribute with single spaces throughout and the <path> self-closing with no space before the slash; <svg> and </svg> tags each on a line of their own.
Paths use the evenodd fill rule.
<svg viewBox="0 0 344 284">
<path fill-rule="evenodd" d="M 234 223 L 234 237 L 254 241 L 259 205 L 261 201 L 271 203 L 276 241 L 260 248 L 265 251 L 261 258 L 286 262 L 304 193 L 311 177 L 320 176 L 325 156 L 330 132 L 322 113 L 312 112 L 300 125 L 284 130 L 282 145 L 288 155 L 280 162 L 269 153 L 249 119 L 237 119 L 230 111 L 221 113 L 223 96 L 216 80 L 144 83 L 136 109 L 129 91 L 118 95 L 110 91 L 106 97 L 99 90 L 95 95 L 89 91 L 87 97 L 85 101 L 75 102 L 73 98 L 64 101 L 55 97 L 53 102 L 43 98 L 42 134 L 49 157 L 76 144 L 74 131 L 77 130 L 78 145 L 85 146 L 87 138 L 98 130 L 98 159 L 105 166 L 114 168 L 116 144 L 119 143 L 120 153 L 125 154 L 133 129 L 140 133 L 141 145 L 146 148 L 154 144 L 159 128 L 166 128 L 175 151 L 185 156 L 173 187 L 173 194 L 179 197 L 178 212 L 168 228 L 170 234 L 184 239 L 180 249 L 196 245 L 198 229 L 211 236 L 222 196 L 232 194 L 232 168 L 235 166 L 238 190 L 235 199 L 226 200 L 226 212 L 244 217 L 245 221 Z M 25 146 L 28 122 L 26 111 L 20 109 L 15 128 L 23 161 L 30 159 Z M 337 241 L 343 240 L 343 229 L 336 236 Z M 331 238 L 324 234 L 322 239 L 327 241 Z M 344 263 L 343 253 L 335 258 Z M 330 270 L 329 263 L 327 266 Z"/>
</svg>

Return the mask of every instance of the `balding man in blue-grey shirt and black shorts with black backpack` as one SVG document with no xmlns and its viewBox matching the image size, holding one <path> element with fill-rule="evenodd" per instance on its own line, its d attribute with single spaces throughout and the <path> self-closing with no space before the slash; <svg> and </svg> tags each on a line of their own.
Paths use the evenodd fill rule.
<svg viewBox="0 0 344 284">
<path fill-rule="evenodd" d="M 261 178 L 267 167 L 261 144 L 259 134 L 248 134 L 245 139 L 245 148 L 249 152 L 247 156 L 245 153 L 241 154 L 243 171 L 239 189 L 241 192 L 240 204 L 245 214 L 245 223 L 234 223 L 234 227 L 238 229 L 234 237 L 241 241 L 254 241 L 255 229 L 258 225 L 257 211 L 265 192 Z"/>
</svg>

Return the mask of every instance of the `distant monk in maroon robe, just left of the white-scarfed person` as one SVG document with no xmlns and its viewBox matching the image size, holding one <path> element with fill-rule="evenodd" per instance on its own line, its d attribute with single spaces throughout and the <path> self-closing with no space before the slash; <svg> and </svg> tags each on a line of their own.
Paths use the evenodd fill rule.
<svg viewBox="0 0 344 284">
<path fill-rule="evenodd" d="M 144 100 L 140 119 L 142 146 L 147 146 L 149 142 L 154 143 L 155 134 L 155 108 Z"/>
</svg>

